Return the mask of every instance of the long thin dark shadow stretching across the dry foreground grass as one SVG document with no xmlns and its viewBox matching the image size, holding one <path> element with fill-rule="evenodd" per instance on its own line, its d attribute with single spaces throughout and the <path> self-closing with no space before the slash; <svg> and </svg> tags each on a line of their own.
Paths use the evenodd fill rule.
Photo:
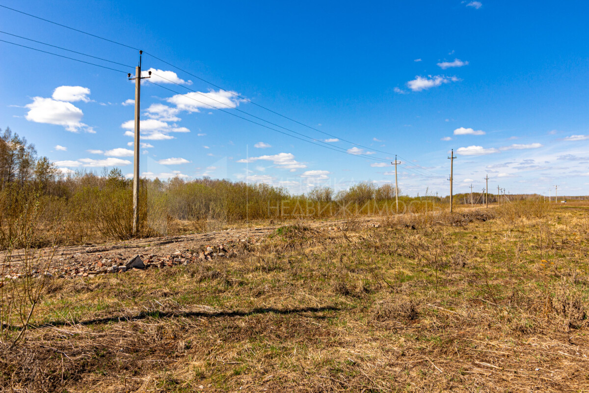
<svg viewBox="0 0 589 393">
<path fill-rule="evenodd" d="M 325 311 L 342 311 L 341 308 L 326 306 L 326 307 L 304 307 L 304 308 L 293 308 L 293 309 L 276 309 L 276 308 L 256 308 L 252 311 L 220 311 L 220 312 L 199 312 L 199 311 L 187 311 L 187 312 L 161 312 L 161 311 L 149 311 L 140 312 L 133 316 L 110 316 L 107 318 L 90 319 L 88 321 L 75 322 L 75 321 L 54 321 L 47 322 L 43 325 L 29 326 L 29 329 L 37 328 L 49 328 L 52 326 L 65 326 L 65 325 L 99 325 L 102 323 L 113 323 L 113 322 L 125 322 L 125 321 L 140 321 L 141 319 L 147 318 L 223 318 L 223 317 L 240 317 L 240 316 L 251 316 L 266 313 L 274 313 L 280 315 L 288 314 L 300 314 L 306 312 L 325 312 Z M 325 319 L 326 316 L 315 315 L 313 318 Z M 72 323 L 73 322 L 73 323 Z M 19 330 L 19 328 L 15 328 Z"/>
</svg>

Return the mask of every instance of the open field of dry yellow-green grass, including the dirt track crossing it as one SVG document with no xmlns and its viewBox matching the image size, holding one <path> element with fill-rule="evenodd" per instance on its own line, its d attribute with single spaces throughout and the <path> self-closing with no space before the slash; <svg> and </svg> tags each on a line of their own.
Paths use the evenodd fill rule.
<svg viewBox="0 0 589 393">
<path fill-rule="evenodd" d="M 587 391 L 589 216 L 582 204 L 547 206 L 62 247 L 54 263 L 94 269 L 136 253 L 151 263 L 57 272 L 27 341 L 2 344 L 0 385 Z"/>
</svg>

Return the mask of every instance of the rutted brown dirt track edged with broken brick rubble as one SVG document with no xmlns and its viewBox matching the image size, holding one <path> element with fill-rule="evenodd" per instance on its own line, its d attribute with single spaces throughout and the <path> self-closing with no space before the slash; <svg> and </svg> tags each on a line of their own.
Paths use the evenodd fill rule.
<svg viewBox="0 0 589 393">
<path fill-rule="evenodd" d="M 362 217 L 356 219 L 360 226 L 378 225 L 382 217 Z M 339 229 L 346 220 L 309 221 L 305 225 L 316 228 Z M 292 223 L 291 223 L 292 224 Z M 197 260 L 209 260 L 219 257 L 232 257 L 242 246 L 240 243 L 255 244 L 263 241 L 275 232 L 281 224 L 234 228 L 209 233 L 182 236 L 161 236 L 148 239 L 135 239 L 125 242 L 110 242 L 102 245 L 63 246 L 52 249 L 47 247 L 35 251 L 34 263 L 24 263 L 27 259 L 25 250 L 15 250 L 9 259 L 6 253 L 0 253 L 0 279 L 19 278 L 27 270 L 33 276 L 47 272 L 52 276 L 65 278 L 87 277 L 107 273 L 124 273 L 127 264 L 139 255 L 145 268 L 187 265 Z M 53 253 L 53 255 L 52 255 Z M 52 258 L 51 258 L 52 255 Z M 29 257 L 29 260 L 31 258 Z M 48 260 L 50 262 L 48 262 Z M 128 270 L 133 270 L 129 267 Z"/>
</svg>

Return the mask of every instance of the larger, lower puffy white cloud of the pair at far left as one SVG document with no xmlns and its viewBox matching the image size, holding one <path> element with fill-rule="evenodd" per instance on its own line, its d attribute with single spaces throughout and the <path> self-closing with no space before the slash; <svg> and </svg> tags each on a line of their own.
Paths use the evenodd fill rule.
<svg viewBox="0 0 589 393">
<path fill-rule="evenodd" d="M 25 118 L 35 123 L 55 124 L 63 126 L 67 131 L 77 133 L 80 128 L 87 127 L 81 123 L 84 113 L 78 107 L 64 101 L 51 98 L 33 97 L 31 104 L 25 105 L 29 111 Z"/>
</svg>

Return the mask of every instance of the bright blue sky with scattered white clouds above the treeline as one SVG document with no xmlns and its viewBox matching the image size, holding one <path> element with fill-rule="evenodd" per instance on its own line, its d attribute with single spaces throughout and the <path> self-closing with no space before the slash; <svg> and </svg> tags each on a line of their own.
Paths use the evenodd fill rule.
<svg viewBox="0 0 589 393">
<path fill-rule="evenodd" d="M 403 193 L 445 195 L 454 148 L 456 192 L 471 183 L 480 191 L 488 174 L 492 190 L 548 194 L 558 184 L 559 194 L 589 194 L 587 2 L 396 3 L 0 0 L 141 48 L 232 92 L 144 55 L 144 70 L 179 85 L 151 81 L 188 94 L 142 85 L 145 177 L 263 181 L 293 193 L 345 189 L 394 182 L 389 161 L 399 154 Z M 134 49 L 4 8 L 0 18 L 1 31 L 131 68 L 0 34 L 5 41 L 125 72 L 138 62 Z M 133 172 L 133 138 L 125 133 L 134 108 L 125 103 L 134 85 L 124 73 L 5 42 L 0 48 L 2 128 L 27 137 L 64 172 Z"/>
</svg>

